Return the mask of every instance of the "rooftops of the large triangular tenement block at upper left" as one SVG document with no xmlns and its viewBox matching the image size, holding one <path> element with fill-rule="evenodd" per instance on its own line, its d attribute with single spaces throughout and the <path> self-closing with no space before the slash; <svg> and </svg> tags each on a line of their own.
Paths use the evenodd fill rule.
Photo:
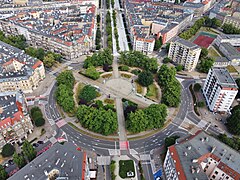
<svg viewBox="0 0 240 180">
<path fill-rule="evenodd" d="M 1 21 L 27 28 L 30 32 L 69 46 L 84 43 L 85 37 L 93 38 L 95 11 L 96 6 L 92 4 L 33 7 L 8 12 L 1 17 Z"/>
</svg>

